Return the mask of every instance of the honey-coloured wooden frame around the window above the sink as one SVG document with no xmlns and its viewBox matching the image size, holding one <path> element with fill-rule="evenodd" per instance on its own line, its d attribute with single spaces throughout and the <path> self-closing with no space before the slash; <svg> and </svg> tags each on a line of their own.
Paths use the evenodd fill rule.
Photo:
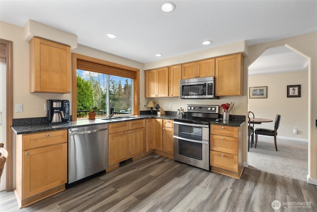
<svg viewBox="0 0 317 212">
<path fill-rule="evenodd" d="M 92 58 L 89 56 L 85 55 L 80 55 L 76 53 L 72 53 L 72 111 L 75 111 L 74 113 L 72 112 L 72 121 L 77 120 L 77 116 L 74 115 L 76 114 L 77 111 L 77 60 L 81 61 L 87 61 L 91 63 L 96 63 L 100 65 L 104 65 L 106 67 L 113 67 L 115 69 L 121 69 L 122 71 L 134 71 L 135 72 L 135 79 L 133 79 L 133 99 L 132 99 L 132 104 L 133 104 L 133 115 L 139 115 L 140 114 L 140 70 L 128 66 L 124 66 L 121 64 L 116 64 L 112 63 L 109 61 L 97 59 L 97 58 Z M 115 75 L 115 74 L 113 74 Z"/>
</svg>

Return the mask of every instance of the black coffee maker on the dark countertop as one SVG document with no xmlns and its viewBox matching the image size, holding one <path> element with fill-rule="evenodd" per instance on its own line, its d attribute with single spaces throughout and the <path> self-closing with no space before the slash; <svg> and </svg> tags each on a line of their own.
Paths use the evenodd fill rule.
<svg viewBox="0 0 317 212">
<path fill-rule="evenodd" d="M 69 122 L 69 100 L 48 99 L 46 109 L 46 117 L 50 124 Z"/>
</svg>

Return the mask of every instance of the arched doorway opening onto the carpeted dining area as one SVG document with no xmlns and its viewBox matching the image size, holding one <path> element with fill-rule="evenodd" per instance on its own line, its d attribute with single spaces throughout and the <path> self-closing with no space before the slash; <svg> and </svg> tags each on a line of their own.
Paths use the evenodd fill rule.
<svg viewBox="0 0 317 212">
<path fill-rule="evenodd" d="M 263 142 L 260 142 L 259 136 L 257 149 L 250 148 L 248 153 L 249 167 L 306 181 L 309 134 L 308 64 L 307 57 L 283 45 L 266 49 L 249 66 L 248 87 L 267 86 L 267 98 L 253 99 L 248 96 L 248 110 L 259 118 L 274 120 L 276 114 L 281 114 L 282 117 L 277 141 L 278 147 L 280 144 L 279 151 L 275 151 L 273 138 L 262 137 Z M 287 85 L 298 84 L 302 88 L 301 97 L 288 98 Z M 273 127 L 273 123 L 255 126 L 269 129 Z M 297 128 L 297 134 L 294 134 L 294 128 Z M 294 170 L 297 170 L 296 173 Z"/>
</svg>

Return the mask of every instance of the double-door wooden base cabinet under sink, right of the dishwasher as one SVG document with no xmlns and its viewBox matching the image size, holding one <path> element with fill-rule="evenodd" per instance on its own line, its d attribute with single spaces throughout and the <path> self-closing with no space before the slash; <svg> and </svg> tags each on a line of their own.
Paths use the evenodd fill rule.
<svg viewBox="0 0 317 212">
<path fill-rule="evenodd" d="M 109 166 L 145 152 L 145 120 L 108 125 Z"/>
</svg>

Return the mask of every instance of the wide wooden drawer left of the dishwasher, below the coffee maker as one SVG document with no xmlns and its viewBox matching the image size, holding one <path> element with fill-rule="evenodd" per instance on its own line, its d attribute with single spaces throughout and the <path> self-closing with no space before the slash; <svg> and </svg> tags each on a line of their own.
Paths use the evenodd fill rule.
<svg viewBox="0 0 317 212">
<path fill-rule="evenodd" d="M 67 142 L 67 130 L 49 131 L 23 135 L 22 149 L 38 148 Z"/>
</svg>

